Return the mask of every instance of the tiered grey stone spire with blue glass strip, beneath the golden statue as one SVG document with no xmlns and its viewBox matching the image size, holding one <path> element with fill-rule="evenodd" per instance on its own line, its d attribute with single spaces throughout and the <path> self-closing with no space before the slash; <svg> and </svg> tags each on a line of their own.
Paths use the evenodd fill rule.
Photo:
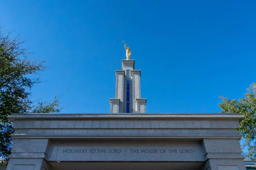
<svg viewBox="0 0 256 170">
<path fill-rule="evenodd" d="M 122 60 L 122 70 L 116 70 L 116 95 L 109 99 L 110 113 L 145 113 L 147 99 L 141 99 L 140 70 L 134 70 L 135 60 Z"/>
</svg>

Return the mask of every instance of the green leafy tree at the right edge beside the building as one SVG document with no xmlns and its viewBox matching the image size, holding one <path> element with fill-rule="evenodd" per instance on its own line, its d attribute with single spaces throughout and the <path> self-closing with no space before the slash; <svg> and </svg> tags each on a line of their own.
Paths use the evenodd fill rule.
<svg viewBox="0 0 256 170">
<path fill-rule="evenodd" d="M 256 159 L 256 83 L 247 88 L 244 98 L 239 100 L 220 96 L 221 113 L 241 113 L 244 119 L 240 122 L 239 133 L 242 135 L 243 154 L 247 159 Z"/>
</svg>

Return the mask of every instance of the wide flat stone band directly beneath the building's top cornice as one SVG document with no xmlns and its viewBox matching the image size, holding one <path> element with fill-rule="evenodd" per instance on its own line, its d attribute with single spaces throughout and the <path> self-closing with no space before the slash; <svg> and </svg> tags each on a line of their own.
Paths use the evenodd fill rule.
<svg viewBox="0 0 256 170">
<path fill-rule="evenodd" d="M 169 119 L 169 120 L 143 120 L 143 119 L 77 119 L 77 120 L 55 120 L 55 119 L 16 119 L 14 123 L 15 129 L 27 128 L 70 128 L 70 129 L 122 129 L 122 128 L 180 128 L 180 129 L 239 129 L 238 120 L 182 120 L 182 119 Z"/>
</svg>

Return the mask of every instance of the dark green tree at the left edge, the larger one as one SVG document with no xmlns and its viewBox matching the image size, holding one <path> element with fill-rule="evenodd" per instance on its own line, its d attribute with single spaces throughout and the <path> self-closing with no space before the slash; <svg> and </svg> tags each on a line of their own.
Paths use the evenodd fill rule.
<svg viewBox="0 0 256 170">
<path fill-rule="evenodd" d="M 39 78 L 31 78 L 40 74 L 47 67 L 45 60 L 29 59 L 26 40 L 19 36 L 11 38 L 4 34 L 0 27 L 0 157 L 8 161 L 12 147 L 11 134 L 14 133 L 12 122 L 8 118 L 12 113 L 56 113 L 59 112 L 59 97 L 52 102 L 33 101 L 29 90 L 40 83 Z"/>
</svg>

